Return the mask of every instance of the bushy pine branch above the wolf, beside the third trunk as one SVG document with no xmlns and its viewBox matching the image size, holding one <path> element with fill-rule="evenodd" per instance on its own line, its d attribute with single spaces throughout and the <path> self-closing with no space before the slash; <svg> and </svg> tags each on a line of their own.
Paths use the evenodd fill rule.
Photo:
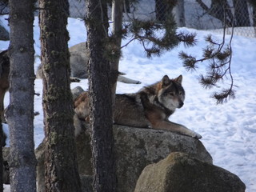
<svg viewBox="0 0 256 192">
<path fill-rule="evenodd" d="M 168 6 L 173 6 L 171 3 L 174 2 L 173 0 L 166 0 Z M 162 22 L 152 19 L 142 21 L 133 18 L 130 23 L 123 27 L 122 36 L 127 38 L 130 35 L 130 41 L 122 46 L 122 48 L 130 44 L 130 42 L 137 40 L 141 42 L 146 56 L 150 58 L 152 56 L 160 56 L 164 52 L 178 46 L 180 42 L 183 42 L 185 46 L 194 46 L 196 34 L 177 33 L 176 30 L 177 26 L 172 14 L 166 15 L 165 21 Z M 191 63 L 190 66 L 193 66 L 193 64 Z"/>
</svg>

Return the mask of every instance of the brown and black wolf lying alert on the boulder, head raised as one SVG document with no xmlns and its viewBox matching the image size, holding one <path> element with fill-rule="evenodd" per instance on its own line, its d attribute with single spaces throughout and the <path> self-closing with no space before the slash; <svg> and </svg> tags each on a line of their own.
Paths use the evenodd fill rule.
<svg viewBox="0 0 256 192">
<path fill-rule="evenodd" d="M 170 130 L 178 134 L 200 139 L 202 136 L 186 126 L 170 122 L 168 118 L 185 100 L 182 75 L 170 79 L 167 75 L 134 94 L 116 94 L 114 123 L 123 126 Z M 83 92 L 74 101 L 75 135 L 82 131 L 82 122 L 89 119 L 89 95 Z"/>
</svg>

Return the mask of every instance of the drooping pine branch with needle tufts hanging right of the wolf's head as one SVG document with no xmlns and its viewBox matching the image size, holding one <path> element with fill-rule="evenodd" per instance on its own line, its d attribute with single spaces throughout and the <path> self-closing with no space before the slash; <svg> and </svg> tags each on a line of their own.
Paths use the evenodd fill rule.
<svg viewBox="0 0 256 192">
<path fill-rule="evenodd" d="M 217 104 L 226 102 L 228 98 L 234 98 L 234 79 L 231 74 L 232 38 L 233 35 L 231 35 L 229 44 L 226 45 L 224 37 L 222 42 L 219 43 L 211 35 L 206 36 L 205 41 L 208 42 L 208 45 L 203 50 L 202 58 L 195 58 L 192 55 L 185 54 L 183 51 L 179 53 L 179 58 L 183 60 L 183 66 L 186 70 L 195 70 L 198 67 L 198 62 L 208 62 L 206 75 L 201 74 L 198 78 L 203 88 L 219 87 L 218 82 L 223 81 L 224 77 L 230 79 L 230 87 L 228 89 L 213 94 L 212 98 L 216 100 Z M 226 48 L 224 48 L 225 45 Z"/>
</svg>

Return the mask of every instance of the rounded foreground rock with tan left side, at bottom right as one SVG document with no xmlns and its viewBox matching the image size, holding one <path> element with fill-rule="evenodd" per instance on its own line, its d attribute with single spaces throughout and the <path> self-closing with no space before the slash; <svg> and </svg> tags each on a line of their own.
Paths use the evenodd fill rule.
<svg viewBox="0 0 256 192">
<path fill-rule="evenodd" d="M 242 192 L 245 184 L 221 167 L 191 158 L 190 154 L 171 153 L 162 161 L 146 166 L 134 192 Z"/>
</svg>

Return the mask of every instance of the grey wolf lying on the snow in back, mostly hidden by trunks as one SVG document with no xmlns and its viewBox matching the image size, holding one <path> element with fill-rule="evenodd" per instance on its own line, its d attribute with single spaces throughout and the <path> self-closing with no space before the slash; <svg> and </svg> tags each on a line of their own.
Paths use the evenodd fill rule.
<svg viewBox="0 0 256 192">
<path fill-rule="evenodd" d="M 71 81 L 74 78 L 88 78 L 87 63 L 88 53 L 86 49 L 86 42 L 78 43 L 70 47 L 70 77 Z M 36 73 L 37 78 L 42 78 L 42 66 L 38 66 Z M 118 76 L 118 82 L 140 84 L 141 82 L 126 78 L 122 75 Z"/>
</svg>

